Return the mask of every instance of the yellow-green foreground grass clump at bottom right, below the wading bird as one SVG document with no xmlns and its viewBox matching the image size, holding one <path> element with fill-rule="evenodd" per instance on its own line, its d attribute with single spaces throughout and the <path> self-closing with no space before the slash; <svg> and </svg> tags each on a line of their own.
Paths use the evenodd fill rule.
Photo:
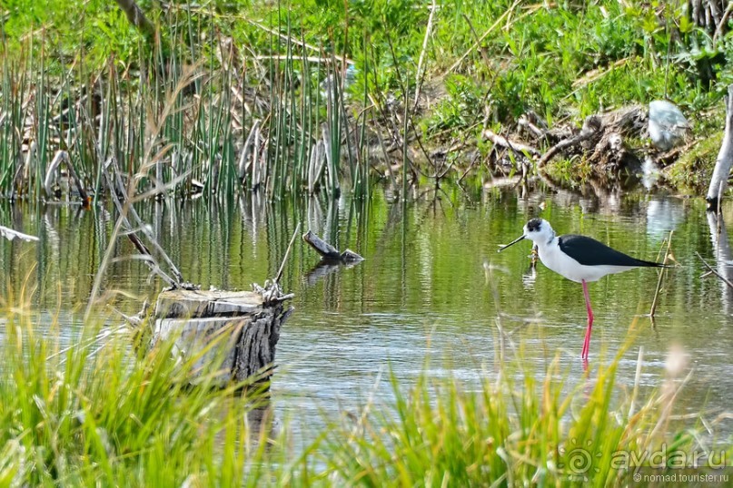
<svg viewBox="0 0 733 488">
<path fill-rule="evenodd" d="M 326 470 L 346 485 L 608 486 L 630 483 L 636 467 L 659 468 L 654 453 L 665 453 L 662 472 L 690 453 L 725 465 L 729 444 L 716 451 L 694 429 L 670 426 L 680 371 L 639 398 L 638 386 L 617 384 L 622 354 L 571 388 L 557 358 L 539 383 L 531 366 L 511 364 L 477 391 L 426 376 L 405 387 L 392 376 L 392 405 L 366 405 L 326 434 Z"/>
</svg>

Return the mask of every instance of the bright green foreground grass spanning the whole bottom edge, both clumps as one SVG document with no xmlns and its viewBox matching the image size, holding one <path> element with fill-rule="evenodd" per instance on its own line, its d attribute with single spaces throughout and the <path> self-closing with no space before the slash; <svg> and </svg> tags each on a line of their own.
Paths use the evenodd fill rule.
<svg viewBox="0 0 733 488">
<path fill-rule="evenodd" d="M 266 420 L 248 422 L 262 396 L 183 388 L 166 347 L 137 354 L 129 334 L 104 327 L 69 338 L 23 308 L 0 321 L 0 486 L 605 486 L 629 482 L 623 454 L 721 462 L 670 427 L 683 373 L 639 398 L 615 383 L 619 357 L 575 388 L 557 361 L 539 381 L 499 366 L 476 391 L 392 378 L 393 400 L 332 419 L 296 452 L 288 425 L 271 438 Z"/>
</svg>

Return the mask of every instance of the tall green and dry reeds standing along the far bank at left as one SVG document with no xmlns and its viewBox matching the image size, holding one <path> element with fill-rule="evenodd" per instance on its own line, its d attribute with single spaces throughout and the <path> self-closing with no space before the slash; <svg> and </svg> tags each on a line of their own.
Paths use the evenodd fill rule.
<svg viewBox="0 0 733 488">
<path fill-rule="evenodd" d="M 126 65 L 111 59 L 94 69 L 81 58 L 59 66 L 30 41 L 5 58 L 0 191 L 35 200 L 84 199 L 87 191 L 98 198 L 108 190 L 104 162 L 114 158 L 134 193 L 146 197 L 253 190 L 279 199 L 319 189 L 335 197 L 347 178 L 366 194 L 369 111 L 360 114 L 357 137 L 344 102 L 351 62 L 326 48 L 311 55 L 288 15 L 265 30 L 275 53 L 268 56 L 244 54 L 216 36 L 190 44 L 202 38 L 193 32 L 202 23 L 215 32 L 213 17 L 189 9 L 166 15 L 160 34 L 186 47 L 155 43 Z M 48 64 L 62 74 L 47 75 Z M 75 170 L 81 191 L 69 190 L 55 168 L 47 171 L 58 151 L 68 158 L 57 165 Z"/>
</svg>

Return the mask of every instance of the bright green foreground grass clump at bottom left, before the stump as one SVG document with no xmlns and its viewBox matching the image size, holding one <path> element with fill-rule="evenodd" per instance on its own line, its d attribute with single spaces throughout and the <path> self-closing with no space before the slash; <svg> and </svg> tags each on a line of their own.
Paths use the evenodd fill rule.
<svg viewBox="0 0 733 488">
<path fill-rule="evenodd" d="M 271 456 L 287 470 L 269 452 L 283 441 L 268 441 L 272 415 L 247 420 L 262 394 L 187 387 L 193 362 L 174 364 L 170 344 L 136 353 L 128 330 L 103 324 L 69 337 L 27 308 L 3 322 L 4 486 L 256 485 Z"/>
</svg>

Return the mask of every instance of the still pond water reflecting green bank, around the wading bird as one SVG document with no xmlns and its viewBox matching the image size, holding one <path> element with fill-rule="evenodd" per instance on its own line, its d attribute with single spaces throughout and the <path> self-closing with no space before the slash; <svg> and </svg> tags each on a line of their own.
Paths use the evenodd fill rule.
<svg viewBox="0 0 733 488">
<path fill-rule="evenodd" d="M 513 330 L 516 351 L 510 349 L 509 360 L 521 346 L 522 361 L 543 376 L 559 356 L 566 383 L 578 385 L 586 320 L 579 284 L 542 265 L 532 272 L 529 241 L 496 252 L 535 216 L 550 220 L 558 233 L 587 234 L 640 259 L 661 259 L 674 230 L 671 249 L 679 267 L 664 278 L 654 327 L 641 316 L 649 313 L 656 270 L 590 285 L 596 316 L 590 367 L 608 363 L 636 323 L 638 337 L 620 363 L 619 386 L 633 385 L 643 347 L 641 385 L 659 387 L 670 347 L 679 346 L 694 371 L 676 413 L 703 412 L 712 419 L 730 411 L 733 293 L 718 278 L 701 278 L 705 269 L 695 253 L 716 263 L 704 202 L 644 193 L 599 199 L 539 189 L 529 195 L 451 190 L 438 200 L 429 194 L 402 205 L 377 191 L 368 204 L 248 198 L 214 206 L 151 202 L 138 210 L 183 277 L 204 288 L 249 289 L 274 276 L 298 222 L 302 232 L 312 229 L 366 259 L 352 268 L 315 269 L 318 256 L 299 239 L 286 264 L 282 284 L 295 294 L 295 312 L 277 346 L 272 398 L 276 416 L 294 420 L 296 429 L 321 424 L 324 414 L 335 417 L 370 396 L 389 402 L 390 368 L 407 385 L 423 371 L 476 385 L 495 371 L 498 316 Z M 722 215 L 733 225 L 731 205 Z M 0 225 L 41 238 L 37 245 L 0 239 L 3 299 L 24 284 L 35 287 L 33 305 L 48 310 L 48 317 L 58 311 L 64 338 L 73 341 L 114 217 L 104 210 L 31 210 L 3 202 Z M 115 254 L 122 259 L 104 277 L 104 299 L 135 312 L 161 284 L 148 280 L 140 261 L 124 259 L 134 254 L 126 240 Z M 733 421 L 727 422 L 717 425 L 723 437 L 733 432 Z"/>
</svg>

